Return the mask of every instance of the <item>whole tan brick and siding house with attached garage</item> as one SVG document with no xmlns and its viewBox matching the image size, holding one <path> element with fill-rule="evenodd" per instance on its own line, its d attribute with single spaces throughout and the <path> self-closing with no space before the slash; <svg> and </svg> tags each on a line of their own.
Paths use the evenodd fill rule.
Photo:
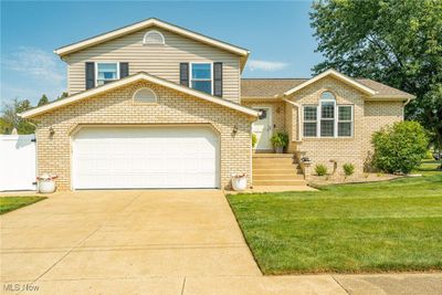
<svg viewBox="0 0 442 295">
<path fill-rule="evenodd" d="M 39 173 L 60 189 L 229 188 L 242 172 L 290 186 L 332 161 L 361 172 L 371 134 L 414 98 L 334 70 L 242 78 L 248 50 L 158 19 L 55 53 L 69 97 L 21 115 L 38 124 Z M 288 134 L 284 155 L 272 154 L 276 131 Z"/>
</svg>

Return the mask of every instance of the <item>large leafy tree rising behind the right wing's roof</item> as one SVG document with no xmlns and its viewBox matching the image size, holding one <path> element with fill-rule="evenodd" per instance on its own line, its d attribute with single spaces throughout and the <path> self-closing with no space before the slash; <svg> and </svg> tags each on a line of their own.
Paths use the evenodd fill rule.
<svg viewBox="0 0 442 295">
<path fill-rule="evenodd" d="M 419 120 L 442 147 L 442 1 L 325 0 L 314 2 L 312 27 L 325 61 L 350 76 L 414 94 L 407 119 Z"/>
</svg>

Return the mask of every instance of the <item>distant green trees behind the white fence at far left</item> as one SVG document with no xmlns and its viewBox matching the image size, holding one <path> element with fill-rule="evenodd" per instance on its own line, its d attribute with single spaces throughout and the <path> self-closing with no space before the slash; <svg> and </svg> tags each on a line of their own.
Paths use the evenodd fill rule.
<svg viewBox="0 0 442 295">
<path fill-rule="evenodd" d="M 4 126 L 4 134 L 10 134 L 12 128 L 17 128 L 19 134 L 33 134 L 35 125 L 30 120 L 18 116 L 19 113 L 31 108 L 31 103 L 28 99 L 14 98 L 8 104 L 3 104 L 1 108 L 1 120 Z"/>
</svg>

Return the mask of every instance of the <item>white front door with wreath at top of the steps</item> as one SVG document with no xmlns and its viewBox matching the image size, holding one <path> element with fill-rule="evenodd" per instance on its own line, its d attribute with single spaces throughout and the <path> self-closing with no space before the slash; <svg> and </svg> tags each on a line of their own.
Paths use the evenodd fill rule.
<svg viewBox="0 0 442 295">
<path fill-rule="evenodd" d="M 252 131 L 256 135 L 256 149 L 273 149 L 272 138 L 272 108 L 254 107 L 260 112 L 260 117 L 253 123 Z"/>
</svg>

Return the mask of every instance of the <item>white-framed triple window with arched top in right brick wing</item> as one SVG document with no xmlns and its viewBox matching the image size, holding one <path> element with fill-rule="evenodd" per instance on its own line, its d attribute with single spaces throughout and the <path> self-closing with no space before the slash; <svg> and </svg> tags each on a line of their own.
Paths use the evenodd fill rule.
<svg viewBox="0 0 442 295">
<path fill-rule="evenodd" d="M 354 129 L 351 105 L 337 105 L 332 92 L 324 92 L 319 105 L 306 105 L 304 112 L 304 137 L 350 137 Z"/>
</svg>

